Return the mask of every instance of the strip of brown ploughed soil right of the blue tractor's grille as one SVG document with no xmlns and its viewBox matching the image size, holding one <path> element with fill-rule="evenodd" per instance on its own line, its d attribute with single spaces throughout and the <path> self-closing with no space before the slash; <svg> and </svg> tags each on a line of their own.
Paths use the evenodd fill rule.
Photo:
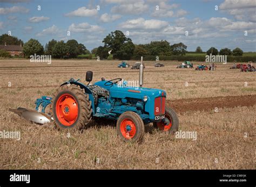
<svg viewBox="0 0 256 187">
<path fill-rule="evenodd" d="M 214 110 L 215 107 L 235 107 L 235 106 L 253 106 L 256 104 L 256 95 L 247 96 L 226 96 L 209 97 L 195 99 L 168 100 L 167 106 L 172 107 L 177 112 L 197 110 Z"/>
</svg>

